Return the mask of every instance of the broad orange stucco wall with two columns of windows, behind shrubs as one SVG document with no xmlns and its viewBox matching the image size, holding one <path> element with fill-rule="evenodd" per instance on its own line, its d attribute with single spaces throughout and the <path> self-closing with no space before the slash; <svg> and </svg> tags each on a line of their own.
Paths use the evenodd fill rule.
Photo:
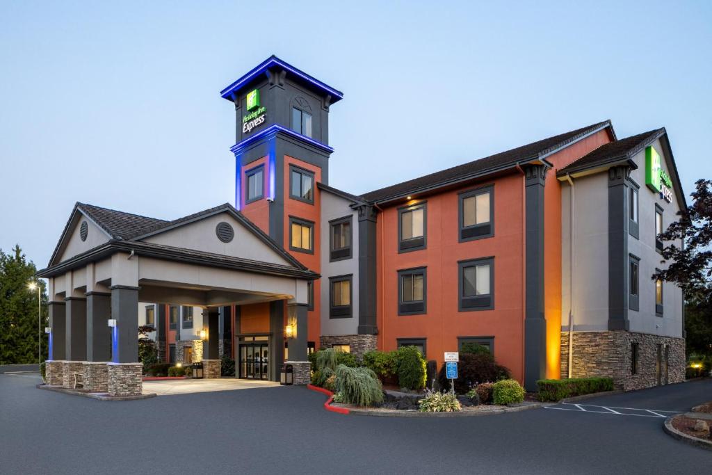
<svg viewBox="0 0 712 475">
<path fill-rule="evenodd" d="M 494 236 L 460 243 L 458 194 L 493 184 Z M 379 348 L 394 350 L 397 338 L 427 338 L 427 357 L 440 365 L 445 351 L 457 351 L 460 337 L 494 337 L 495 357 L 523 378 L 523 206 L 521 174 L 471 184 L 424 197 L 427 249 L 398 254 L 398 206 L 377 222 Z M 403 202 L 412 204 L 412 202 Z M 494 257 L 494 309 L 458 311 L 458 261 Z M 427 266 L 427 313 L 398 315 L 399 269 Z"/>
</svg>

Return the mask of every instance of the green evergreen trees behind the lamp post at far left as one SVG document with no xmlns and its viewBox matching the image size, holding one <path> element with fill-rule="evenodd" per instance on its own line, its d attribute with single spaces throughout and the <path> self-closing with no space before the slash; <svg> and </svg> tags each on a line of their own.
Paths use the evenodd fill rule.
<svg viewBox="0 0 712 475">
<path fill-rule="evenodd" d="M 47 359 L 47 294 L 44 281 L 37 281 L 37 268 L 27 261 L 16 245 L 5 254 L 0 249 L 0 365 L 37 362 L 37 333 L 41 332 L 42 360 Z M 41 294 L 41 323 L 37 322 L 37 291 L 28 283 L 36 282 Z"/>
</svg>

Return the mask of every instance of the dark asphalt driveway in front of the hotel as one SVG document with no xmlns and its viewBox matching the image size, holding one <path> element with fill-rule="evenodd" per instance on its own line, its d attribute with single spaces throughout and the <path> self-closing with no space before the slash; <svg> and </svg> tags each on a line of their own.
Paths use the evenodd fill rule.
<svg viewBox="0 0 712 475">
<path fill-rule="evenodd" d="M 335 414 L 304 387 L 108 402 L 0 375 L 2 474 L 627 474 L 699 473 L 708 451 L 655 417 L 536 409 L 486 417 Z M 712 381 L 600 398 L 689 409 Z M 591 401 L 587 401 L 591 402 Z"/>
</svg>

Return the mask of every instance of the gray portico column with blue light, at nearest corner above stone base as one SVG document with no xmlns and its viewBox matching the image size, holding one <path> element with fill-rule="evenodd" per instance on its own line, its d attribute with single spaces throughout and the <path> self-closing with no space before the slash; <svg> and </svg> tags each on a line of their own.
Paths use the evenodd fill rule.
<svg viewBox="0 0 712 475">
<path fill-rule="evenodd" d="M 138 287 L 111 287 L 111 360 L 115 363 L 138 361 Z"/>
</svg>

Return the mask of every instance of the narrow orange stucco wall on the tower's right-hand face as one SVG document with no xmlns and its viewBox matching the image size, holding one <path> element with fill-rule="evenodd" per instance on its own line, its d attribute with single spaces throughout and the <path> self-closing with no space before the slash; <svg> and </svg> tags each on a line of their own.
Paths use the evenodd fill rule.
<svg viewBox="0 0 712 475">
<path fill-rule="evenodd" d="M 314 204 L 301 202 L 297 199 L 290 199 L 289 197 L 289 187 L 290 187 L 290 172 L 289 165 L 295 165 L 297 167 L 307 169 L 314 173 Z M 310 268 L 312 271 L 320 272 L 321 261 L 320 261 L 320 217 L 321 217 L 321 199 L 320 190 L 316 186 L 317 182 L 321 182 L 321 169 L 310 163 L 303 162 L 293 157 L 285 155 L 284 157 L 284 187 L 282 189 L 284 197 L 284 249 L 288 250 L 292 256 L 294 256 L 298 261 L 303 263 L 305 266 Z M 290 236 L 289 236 L 289 216 L 295 216 L 297 218 L 306 219 L 308 221 L 314 222 L 314 254 L 308 254 L 299 251 L 290 251 Z M 320 328 L 320 296 L 321 283 L 320 281 L 314 281 L 314 310 L 308 312 L 308 340 L 316 342 L 318 345 L 319 336 L 321 335 Z M 286 315 L 286 313 L 285 313 Z"/>
</svg>

